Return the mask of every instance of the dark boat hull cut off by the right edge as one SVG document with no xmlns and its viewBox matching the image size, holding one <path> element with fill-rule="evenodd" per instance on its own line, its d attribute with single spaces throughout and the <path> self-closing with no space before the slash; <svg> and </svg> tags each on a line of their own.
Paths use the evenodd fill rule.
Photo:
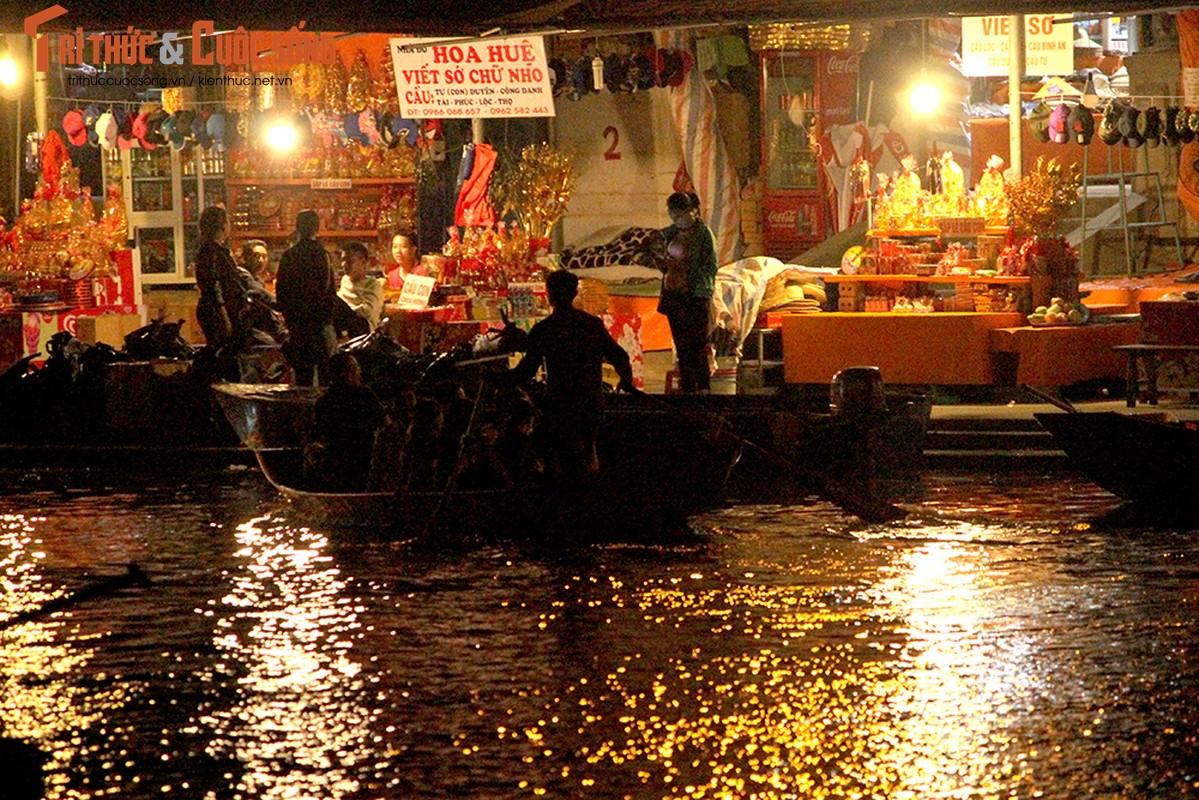
<svg viewBox="0 0 1199 800">
<path fill-rule="evenodd" d="M 1108 492 L 1143 505 L 1180 506 L 1199 488 L 1199 428 L 1161 414 L 1037 414 L 1074 467 Z"/>
</svg>

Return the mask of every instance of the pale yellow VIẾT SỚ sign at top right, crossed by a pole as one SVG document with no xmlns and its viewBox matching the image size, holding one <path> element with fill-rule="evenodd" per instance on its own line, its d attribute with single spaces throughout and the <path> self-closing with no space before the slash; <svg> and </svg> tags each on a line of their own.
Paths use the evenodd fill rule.
<svg viewBox="0 0 1199 800">
<path fill-rule="evenodd" d="M 1024 18 L 1024 74 L 1068 76 L 1074 71 L 1074 26 L 1055 25 L 1053 14 Z M 1010 17 L 962 18 L 962 74 L 1006 76 Z"/>
</svg>

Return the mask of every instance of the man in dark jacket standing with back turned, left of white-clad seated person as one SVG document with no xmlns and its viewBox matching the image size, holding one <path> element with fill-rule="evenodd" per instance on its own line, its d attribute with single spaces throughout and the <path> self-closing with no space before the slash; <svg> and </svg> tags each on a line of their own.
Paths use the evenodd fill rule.
<svg viewBox="0 0 1199 800">
<path fill-rule="evenodd" d="M 295 383 L 311 386 L 337 349 L 333 332 L 333 270 L 325 248 L 317 243 L 320 217 L 306 209 L 296 215 L 296 235 L 279 260 L 275 291 L 290 338 L 284 353 Z"/>
</svg>

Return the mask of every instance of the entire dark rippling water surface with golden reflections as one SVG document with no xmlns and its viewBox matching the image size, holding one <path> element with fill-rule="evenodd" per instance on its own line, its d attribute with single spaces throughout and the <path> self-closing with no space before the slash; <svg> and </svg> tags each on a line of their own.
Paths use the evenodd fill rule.
<svg viewBox="0 0 1199 800">
<path fill-rule="evenodd" d="M 7 486 L 0 733 L 49 798 L 1199 796 L 1199 531 L 1071 474 L 584 548 L 306 527 L 248 470 Z"/>
</svg>

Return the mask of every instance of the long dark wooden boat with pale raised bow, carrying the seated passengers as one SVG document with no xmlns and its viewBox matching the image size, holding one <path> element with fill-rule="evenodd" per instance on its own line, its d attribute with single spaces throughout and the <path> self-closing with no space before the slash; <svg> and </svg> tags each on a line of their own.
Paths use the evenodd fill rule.
<svg viewBox="0 0 1199 800">
<path fill-rule="evenodd" d="M 436 528 L 459 535 L 661 530 L 721 505 L 737 457 L 734 446 L 682 420 L 647 435 L 651 422 L 643 417 L 643 435 L 626 429 L 621 443 L 601 441 L 601 471 L 585 487 L 329 492 L 311 487 L 303 471 L 319 390 L 257 384 L 213 389 L 271 485 L 301 513 L 339 525 L 386 525 L 411 534 Z M 626 427 L 631 422 L 637 421 Z"/>
</svg>

